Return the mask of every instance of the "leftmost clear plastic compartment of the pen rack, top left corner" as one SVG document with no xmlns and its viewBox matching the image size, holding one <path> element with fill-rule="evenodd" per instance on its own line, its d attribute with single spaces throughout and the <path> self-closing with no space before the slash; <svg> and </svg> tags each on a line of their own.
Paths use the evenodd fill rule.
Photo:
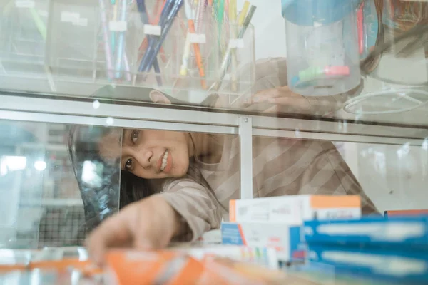
<svg viewBox="0 0 428 285">
<path fill-rule="evenodd" d="M 44 73 L 48 1 L 0 4 L 0 64 L 6 74 Z M 1 74 L 1 73 L 0 73 Z"/>
</svg>

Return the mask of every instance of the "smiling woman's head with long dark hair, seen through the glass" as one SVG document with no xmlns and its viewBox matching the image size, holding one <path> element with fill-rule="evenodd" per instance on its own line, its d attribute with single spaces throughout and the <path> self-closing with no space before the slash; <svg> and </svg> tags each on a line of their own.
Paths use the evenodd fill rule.
<svg viewBox="0 0 428 285">
<path fill-rule="evenodd" d="M 136 94 L 136 90 L 140 93 Z M 183 104 L 151 88 L 106 86 L 94 96 L 104 100 L 138 96 L 153 103 Z M 215 95 L 201 105 L 211 105 L 213 100 Z M 86 232 L 131 202 L 161 192 L 168 182 L 166 177 L 187 177 L 210 190 L 194 160 L 189 159 L 193 149 L 193 138 L 188 133 L 96 126 L 71 128 L 68 152 L 81 190 Z M 85 165 L 92 165 L 94 171 L 86 173 Z"/>
</svg>

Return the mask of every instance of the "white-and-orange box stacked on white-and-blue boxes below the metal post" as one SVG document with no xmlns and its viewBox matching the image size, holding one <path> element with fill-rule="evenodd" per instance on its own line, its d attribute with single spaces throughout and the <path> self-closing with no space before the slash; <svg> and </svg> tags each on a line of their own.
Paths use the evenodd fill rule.
<svg viewBox="0 0 428 285">
<path fill-rule="evenodd" d="M 302 224 L 311 219 L 360 218 L 359 196 L 295 195 L 231 200 L 223 244 L 273 247 L 281 261 L 305 257 Z"/>
</svg>

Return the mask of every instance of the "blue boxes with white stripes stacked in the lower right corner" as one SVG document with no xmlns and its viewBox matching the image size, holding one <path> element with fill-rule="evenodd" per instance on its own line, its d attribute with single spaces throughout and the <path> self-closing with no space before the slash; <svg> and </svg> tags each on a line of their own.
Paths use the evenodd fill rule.
<svg viewBox="0 0 428 285">
<path fill-rule="evenodd" d="M 305 222 L 308 260 L 399 284 L 428 284 L 428 217 Z"/>
</svg>

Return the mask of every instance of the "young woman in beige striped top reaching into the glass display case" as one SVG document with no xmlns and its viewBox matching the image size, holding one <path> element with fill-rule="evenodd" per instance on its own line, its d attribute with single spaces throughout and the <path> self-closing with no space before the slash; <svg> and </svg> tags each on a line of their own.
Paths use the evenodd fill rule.
<svg viewBox="0 0 428 285">
<path fill-rule="evenodd" d="M 336 108 L 292 94 L 282 71 L 283 59 L 258 63 L 252 103 L 279 103 L 311 113 L 316 108 L 322 115 Z M 330 102 L 340 104 L 347 95 L 333 96 Z M 170 100 L 156 90 L 150 97 L 161 103 Z M 239 144 L 234 135 L 116 129 L 99 138 L 98 159 L 120 160 L 121 183 L 132 185 L 121 190 L 121 197 L 131 204 L 91 234 L 88 246 L 97 261 L 102 261 L 107 247 L 152 249 L 165 247 L 172 239 L 198 239 L 220 226 L 229 199 L 239 197 Z M 377 212 L 331 142 L 253 138 L 252 178 L 254 197 L 360 195 L 362 212 Z"/>
</svg>

